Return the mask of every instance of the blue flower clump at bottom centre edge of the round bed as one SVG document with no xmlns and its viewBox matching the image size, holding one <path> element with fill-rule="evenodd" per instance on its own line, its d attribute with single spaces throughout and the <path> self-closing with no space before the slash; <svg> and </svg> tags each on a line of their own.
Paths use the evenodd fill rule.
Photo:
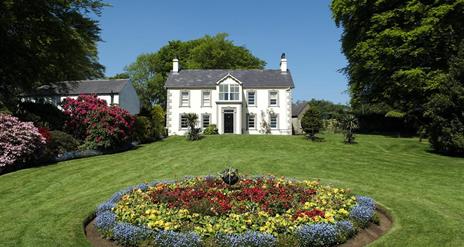
<svg viewBox="0 0 464 247">
<path fill-rule="evenodd" d="M 277 239 L 271 234 L 257 231 L 247 231 L 242 234 L 218 233 L 215 236 L 215 241 L 218 246 L 227 247 L 267 247 L 275 246 L 277 243 Z"/>
</svg>

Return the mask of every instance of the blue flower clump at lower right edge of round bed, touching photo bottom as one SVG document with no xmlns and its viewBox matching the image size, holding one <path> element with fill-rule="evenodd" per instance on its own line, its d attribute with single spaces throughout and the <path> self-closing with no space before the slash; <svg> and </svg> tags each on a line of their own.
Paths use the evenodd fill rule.
<svg viewBox="0 0 464 247">
<path fill-rule="evenodd" d="M 296 237 L 301 246 L 333 246 L 337 243 L 337 229 L 328 223 L 300 226 Z"/>
</svg>

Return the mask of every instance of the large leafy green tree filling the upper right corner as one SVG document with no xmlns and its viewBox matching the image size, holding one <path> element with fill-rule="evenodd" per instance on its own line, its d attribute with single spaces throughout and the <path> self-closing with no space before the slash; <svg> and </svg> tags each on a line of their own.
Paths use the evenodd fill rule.
<svg viewBox="0 0 464 247">
<path fill-rule="evenodd" d="M 435 150 L 464 154 L 464 0 L 332 0 L 331 7 L 344 29 L 352 107 L 414 121 Z"/>
</svg>

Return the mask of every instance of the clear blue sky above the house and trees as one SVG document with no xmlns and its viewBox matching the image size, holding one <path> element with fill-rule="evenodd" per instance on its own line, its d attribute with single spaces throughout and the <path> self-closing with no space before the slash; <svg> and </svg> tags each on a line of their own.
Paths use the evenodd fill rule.
<svg viewBox="0 0 464 247">
<path fill-rule="evenodd" d="M 340 52 L 342 30 L 335 26 L 330 0 L 176 0 L 106 1 L 98 45 L 106 75 L 123 72 L 141 53 L 154 52 L 170 40 L 190 40 L 228 33 L 278 68 L 287 53 L 295 81 L 295 100 L 327 99 L 348 103 L 346 65 Z"/>
</svg>

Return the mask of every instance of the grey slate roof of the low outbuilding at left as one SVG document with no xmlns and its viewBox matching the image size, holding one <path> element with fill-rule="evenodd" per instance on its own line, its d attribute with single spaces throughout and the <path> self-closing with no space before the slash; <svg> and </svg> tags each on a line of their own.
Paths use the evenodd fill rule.
<svg viewBox="0 0 464 247">
<path fill-rule="evenodd" d="M 63 81 L 53 85 L 41 86 L 34 92 L 25 94 L 25 96 L 117 94 L 121 92 L 128 83 L 130 83 L 129 79 Z"/>
</svg>

